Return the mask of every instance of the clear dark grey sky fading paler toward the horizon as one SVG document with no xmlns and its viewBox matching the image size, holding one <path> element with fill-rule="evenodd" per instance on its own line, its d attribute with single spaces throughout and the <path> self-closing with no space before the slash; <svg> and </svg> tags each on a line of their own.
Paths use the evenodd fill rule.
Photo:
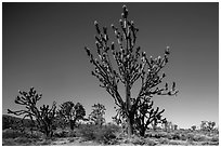
<svg viewBox="0 0 221 148">
<path fill-rule="evenodd" d="M 219 3 L 3 3 L 2 113 L 22 109 L 14 103 L 18 90 L 34 86 L 42 94 L 38 106 L 81 103 L 106 107 L 105 119 L 116 115 L 114 99 L 91 75 L 93 66 L 83 50 L 95 54 L 94 21 L 119 27 L 122 5 L 139 28 L 138 45 L 147 56 L 164 56 L 170 46 L 167 77 L 177 83 L 177 96 L 156 96 L 154 106 L 179 127 L 219 124 Z M 110 41 L 116 41 L 112 38 Z M 136 85 L 139 86 L 139 85 Z M 134 90 L 136 90 L 135 88 Z M 123 96 L 123 91 L 121 91 Z M 135 97 L 135 91 L 132 92 Z"/>
</svg>

